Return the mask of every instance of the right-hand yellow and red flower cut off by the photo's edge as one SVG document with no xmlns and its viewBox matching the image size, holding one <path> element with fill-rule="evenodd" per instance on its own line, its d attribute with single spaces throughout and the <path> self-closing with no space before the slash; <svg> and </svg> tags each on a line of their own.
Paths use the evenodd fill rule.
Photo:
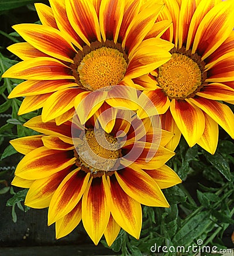
<svg viewBox="0 0 234 256">
<path fill-rule="evenodd" d="M 233 1 L 164 2 L 157 21 L 173 21 L 162 38 L 175 47 L 172 58 L 151 72 L 157 89 L 146 95 L 163 114 L 163 129 L 176 134 L 169 149 L 182 133 L 190 147 L 198 143 L 214 154 L 218 124 L 234 138 L 234 116 L 225 105 L 234 103 Z"/>
</svg>

